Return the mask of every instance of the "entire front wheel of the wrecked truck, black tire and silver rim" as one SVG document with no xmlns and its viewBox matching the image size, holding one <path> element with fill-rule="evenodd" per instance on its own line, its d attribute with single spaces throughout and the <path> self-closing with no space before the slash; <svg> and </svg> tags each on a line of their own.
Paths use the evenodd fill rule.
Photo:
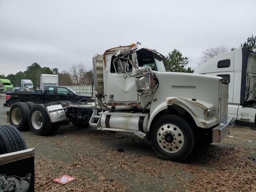
<svg viewBox="0 0 256 192">
<path fill-rule="evenodd" d="M 196 134 L 186 120 L 166 114 L 152 124 L 150 143 L 160 158 L 180 162 L 192 153 L 196 146 Z"/>
</svg>

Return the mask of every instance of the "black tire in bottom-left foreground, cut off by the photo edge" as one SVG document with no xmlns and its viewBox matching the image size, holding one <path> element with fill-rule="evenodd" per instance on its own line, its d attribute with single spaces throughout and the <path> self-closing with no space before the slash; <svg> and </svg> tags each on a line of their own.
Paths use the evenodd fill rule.
<svg viewBox="0 0 256 192">
<path fill-rule="evenodd" d="M 27 149 L 18 129 L 11 125 L 0 125 L 0 155 Z"/>
</svg>

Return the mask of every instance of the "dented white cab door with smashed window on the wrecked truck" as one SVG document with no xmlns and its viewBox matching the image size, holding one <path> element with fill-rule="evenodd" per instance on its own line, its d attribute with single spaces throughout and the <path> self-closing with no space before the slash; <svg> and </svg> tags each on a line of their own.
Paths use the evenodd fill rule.
<svg viewBox="0 0 256 192">
<path fill-rule="evenodd" d="M 127 62 L 128 56 L 122 59 L 120 56 L 107 55 L 107 86 L 104 92 L 107 94 L 105 102 L 138 102 L 136 82 L 134 76 L 135 68 Z M 125 72 L 123 72 L 125 71 Z"/>
</svg>

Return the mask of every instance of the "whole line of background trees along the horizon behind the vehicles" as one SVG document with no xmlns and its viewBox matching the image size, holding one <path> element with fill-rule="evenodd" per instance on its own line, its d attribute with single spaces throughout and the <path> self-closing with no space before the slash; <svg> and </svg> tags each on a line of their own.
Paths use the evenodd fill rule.
<svg viewBox="0 0 256 192">
<path fill-rule="evenodd" d="M 256 49 L 256 36 L 250 36 L 247 38 L 247 41 L 242 43 L 240 47 L 249 47 L 249 50 Z M 219 54 L 234 51 L 236 48 L 230 49 L 226 45 L 221 45 L 217 47 L 210 47 L 202 51 L 200 60 L 197 63 L 196 68 L 202 66 L 206 61 L 214 56 Z M 187 67 L 189 58 L 182 56 L 182 52 L 177 49 L 172 50 L 166 56 L 164 60 L 164 66 L 167 72 L 185 72 L 193 73 L 195 68 Z M 93 72 L 92 69 L 87 70 L 86 67 L 82 64 L 72 65 L 69 71 L 59 72 L 58 68 L 41 67 L 37 63 L 33 63 L 28 66 L 24 72 L 20 71 L 16 74 L 9 74 L 4 76 L 0 75 L 0 78 L 9 79 L 14 86 L 20 86 L 21 79 L 30 79 L 34 83 L 34 86 L 40 86 L 40 76 L 41 74 L 57 74 L 59 76 L 59 84 L 72 86 L 72 85 L 92 85 L 93 82 Z"/>
</svg>

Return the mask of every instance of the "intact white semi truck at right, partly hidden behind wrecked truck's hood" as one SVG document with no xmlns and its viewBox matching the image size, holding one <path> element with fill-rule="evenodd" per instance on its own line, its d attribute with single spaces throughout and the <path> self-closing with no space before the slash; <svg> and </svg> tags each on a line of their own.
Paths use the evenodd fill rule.
<svg viewBox="0 0 256 192">
<path fill-rule="evenodd" d="M 195 73 L 226 78 L 229 81 L 228 115 L 238 124 L 256 125 L 256 52 L 244 47 L 220 54 Z"/>
</svg>

